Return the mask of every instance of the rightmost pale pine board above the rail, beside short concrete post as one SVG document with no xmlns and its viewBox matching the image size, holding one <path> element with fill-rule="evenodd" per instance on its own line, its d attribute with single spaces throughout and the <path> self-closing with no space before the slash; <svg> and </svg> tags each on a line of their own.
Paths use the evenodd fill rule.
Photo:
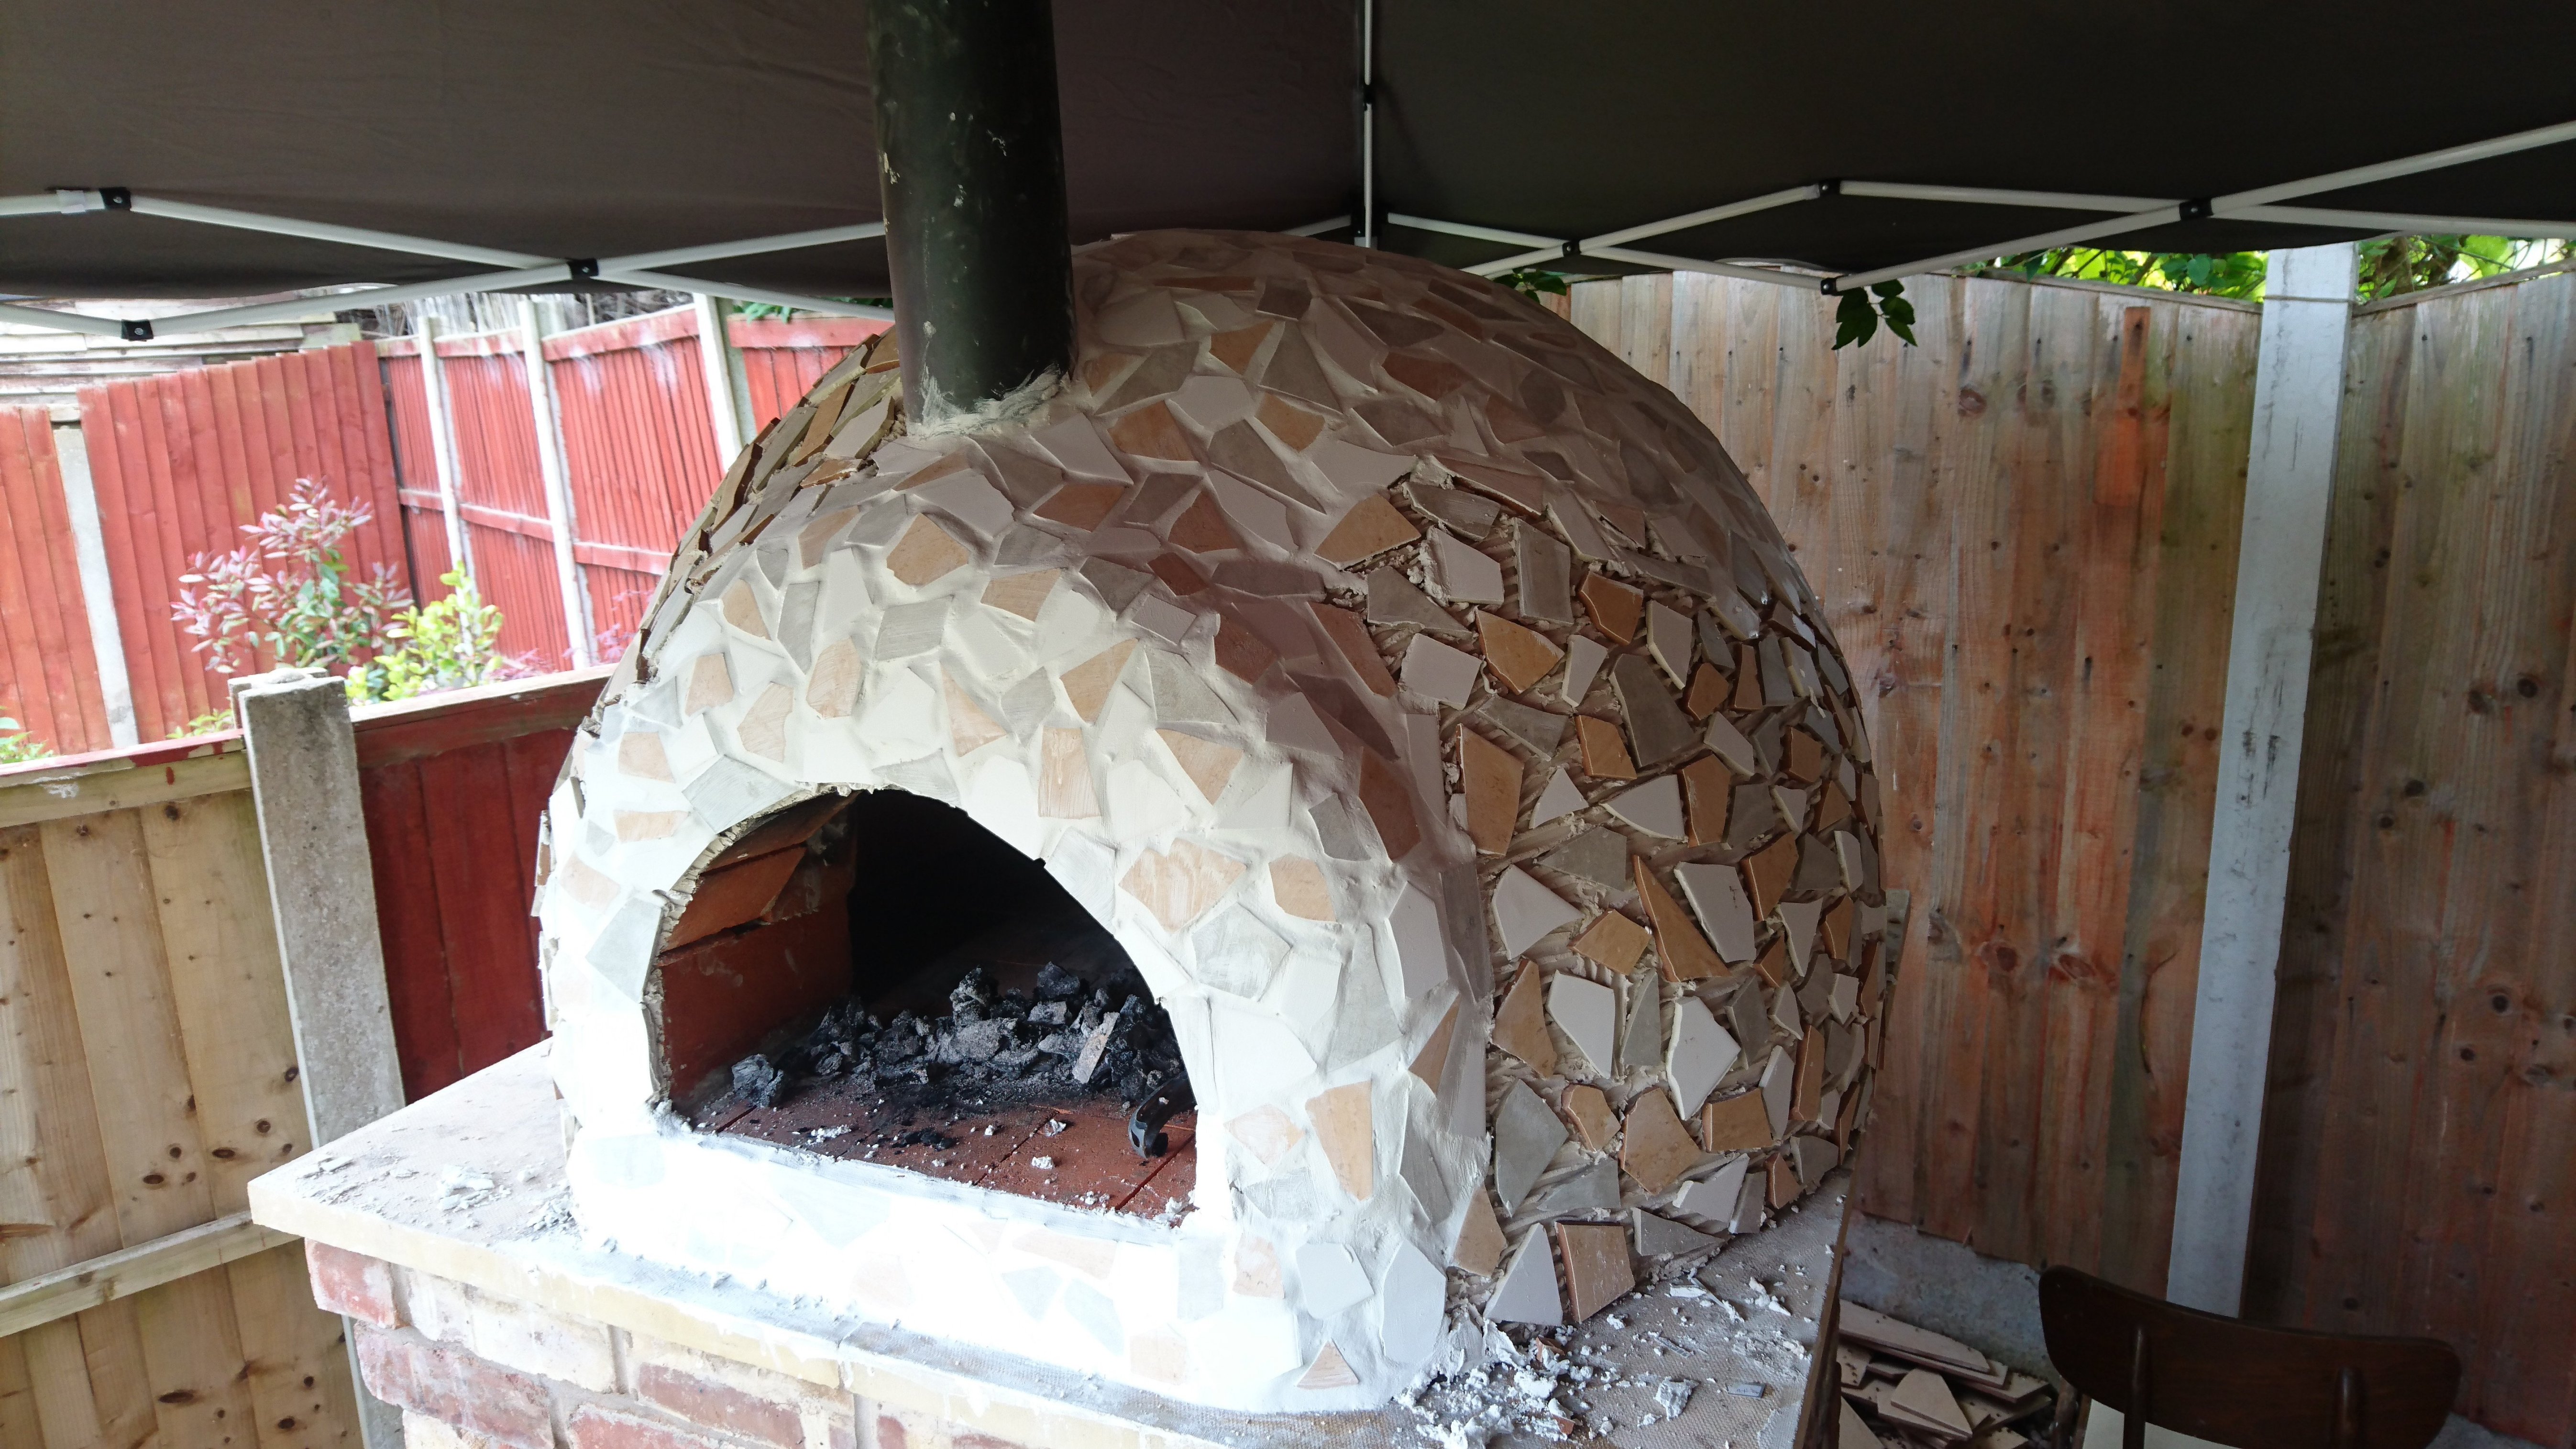
<svg viewBox="0 0 2576 1449">
<path fill-rule="evenodd" d="M 250 1178 L 312 1145 L 260 822 L 232 789 L 147 807 L 142 828 L 214 1212 L 242 1212 Z"/>
</svg>

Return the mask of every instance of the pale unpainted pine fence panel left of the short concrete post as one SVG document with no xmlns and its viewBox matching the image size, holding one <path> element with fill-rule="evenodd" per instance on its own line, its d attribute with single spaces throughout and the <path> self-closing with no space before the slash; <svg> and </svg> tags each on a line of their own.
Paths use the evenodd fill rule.
<svg viewBox="0 0 2576 1449">
<path fill-rule="evenodd" d="M 240 755 L 106 763 L 72 797 L 0 773 L 0 1287 L 242 1212 L 309 1150 Z M 54 1318 L 0 1338 L 0 1441 L 353 1446 L 343 1325 L 296 1245 Z"/>
</svg>

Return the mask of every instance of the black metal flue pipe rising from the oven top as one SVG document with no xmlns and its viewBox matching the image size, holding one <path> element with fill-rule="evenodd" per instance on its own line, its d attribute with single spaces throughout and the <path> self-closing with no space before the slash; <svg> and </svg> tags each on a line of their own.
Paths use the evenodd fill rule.
<svg viewBox="0 0 2576 1449">
<path fill-rule="evenodd" d="M 1074 361 L 1048 0 L 868 0 L 904 415 L 940 428 Z"/>
</svg>

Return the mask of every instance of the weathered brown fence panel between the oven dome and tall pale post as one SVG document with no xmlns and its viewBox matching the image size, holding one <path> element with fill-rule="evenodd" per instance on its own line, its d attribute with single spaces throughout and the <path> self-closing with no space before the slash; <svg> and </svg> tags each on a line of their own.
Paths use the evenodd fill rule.
<svg viewBox="0 0 2576 1449">
<path fill-rule="evenodd" d="M 1955 278 L 1914 304 L 1919 345 L 1839 353 L 1829 299 L 1762 284 L 1566 312 L 1710 423 L 1865 681 L 1914 938 L 1862 1204 L 2161 1287 L 2259 320 Z"/>
</svg>

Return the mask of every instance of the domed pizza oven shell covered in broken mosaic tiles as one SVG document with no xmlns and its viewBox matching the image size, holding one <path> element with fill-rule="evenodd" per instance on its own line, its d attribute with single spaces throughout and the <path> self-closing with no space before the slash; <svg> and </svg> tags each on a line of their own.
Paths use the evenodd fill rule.
<svg viewBox="0 0 2576 1449">
<path fill-rule="evenodd" d="M 1298 1410 L 1383 1403 L 1481 1320 L 1589 1318 L 1814 1189 L 1878 1049 L 1878 784 L 1708 428 L 1386 253 L 1149 232 L 1074 289 L 1074 376 L 1025 423 L 907 436 L 881 340 L 683 541 L 549 812 L 582 1222 Z M 958 804 L 1136 959 L 1208 1147 L 1175 1227 L 1077 1253 L 997 1194 L 951 1194 L 963 1230 L 853 1214 L 817 1183 L 889 1168 L 675 1124 L 652 962 L 696 866 L 868 789 Z M 693 1217 L 744 1204 L 721 1243 Z"/>
</svg>

